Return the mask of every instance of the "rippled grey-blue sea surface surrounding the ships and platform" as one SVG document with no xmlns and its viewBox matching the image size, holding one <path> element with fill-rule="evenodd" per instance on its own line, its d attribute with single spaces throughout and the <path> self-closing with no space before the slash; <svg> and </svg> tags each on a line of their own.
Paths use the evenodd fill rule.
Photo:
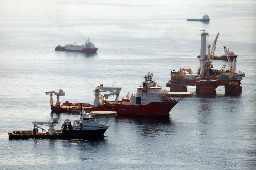
<svg viewBox="0 0 256 170">
<path fill-rule="evenodd" d="M 205 13 L 209 23 L 186 21 Z M 2 0 L 0 169 L 255 169 L 255 28 L 255 0 Z M 104 140 L 8 139 L 9 130 L 32 130 L 33 120 L 58 117 L 59 129 L 78 118 L 51 113 L 45 91 L 63 89 L 61 102 L 93 103 L 99 84 L 122 87 L 125 96 L 148 71 L 164 88 L 170 69 L 196 72 L 202 29 L 208 43 L 220 33 L 217 55 L 224 45 L 238 55 L 241 95 L 218 87 L 216 97 L 183 99 L 169 117 L 111 118 Z M 87 37 L 96 55 L 54 51 Z M 227 61 L 213 65 L 228 69 Z"/>
</svg>

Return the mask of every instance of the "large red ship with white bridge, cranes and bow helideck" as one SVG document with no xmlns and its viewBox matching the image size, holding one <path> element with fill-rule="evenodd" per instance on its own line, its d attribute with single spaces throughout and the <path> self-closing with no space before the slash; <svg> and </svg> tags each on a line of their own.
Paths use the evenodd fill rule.
<svg viewBox="0 0 256 170">
<path fill-rule="evenodd" d="M 171 109 L 184 97 L 191 93 L 167 92 L 160 84 L 152 81 L 153 73 L 148 72 L 143 76 L 145 81 L 137 87 L 137 93 L 127 93 L 126 98 L 118 100 L 120 87 L 105 87 L 102 84 L 94 89 L 94 105 L 89 103 L 64 102 L 60 105 L 59 96 L 64 96 L 65 92 L 45 92 L 50 95 L 51 110 L 60 112 L 85 111 L 116 111 L 117 114 L 128 115 L 169 115 Z M 102 95 L 101 92 L 110 92 Z M 57 102 L 53 105 L 52 95 L 57 95 Z M 116 95 L 115 101 L 107 101 L 108 96 Z M 179 97 L 174 99 L 173 97 Z"/>
</svg>

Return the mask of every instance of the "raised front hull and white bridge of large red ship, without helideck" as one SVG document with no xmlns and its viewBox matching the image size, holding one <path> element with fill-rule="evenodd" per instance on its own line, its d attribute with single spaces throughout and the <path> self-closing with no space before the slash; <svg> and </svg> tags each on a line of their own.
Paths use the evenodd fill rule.
<svg viewBox="0 0 256 170">
<path fill-rule="evenodd" d="M 145 81 L 137 87 L 136 94 L 127 93 L 126 97 L 115 104 L 117 114 L 130 115 L 169 115 L 179 100 L 171 99 L 166 89 L 152 81 L 153 73 L 142 76 Z"/>
</svg>

